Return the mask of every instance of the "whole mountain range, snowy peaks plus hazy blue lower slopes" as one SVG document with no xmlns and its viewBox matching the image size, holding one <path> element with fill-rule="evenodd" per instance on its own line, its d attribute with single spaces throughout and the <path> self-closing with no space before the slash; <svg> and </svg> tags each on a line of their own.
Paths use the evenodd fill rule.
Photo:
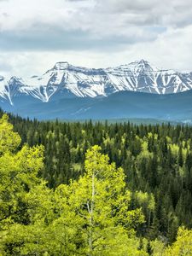
<svg viewBox="0 0 192 256">
<path fill-rule="evenodd" d="M 0 76 L 0 108 L 38 119 L 165 119 L 192 123 L 192 73 L 135 61 L 94 69 L 57 62 L 42 76 Z"/>
</svg>

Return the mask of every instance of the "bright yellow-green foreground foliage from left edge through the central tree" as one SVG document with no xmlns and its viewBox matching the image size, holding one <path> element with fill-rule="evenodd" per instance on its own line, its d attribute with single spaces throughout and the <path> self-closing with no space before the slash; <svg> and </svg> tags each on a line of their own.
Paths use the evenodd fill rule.
<svg viewBox="0 0 192 256">
<path fill-rule="evenodd" d="M 7 117 L 1 124 L 6 133 Z M 19 142 L 12 129 L 6 139 Z M 54 191 L 38 177 L 44 148 L 25 145 L 16 151 L 6 147 L 6 139 L 0 157 L 2 255 L 147 255 L 138 249 L 135 231 L 143 213 L 130 209 L 125 174 L 100 147 L 87 151 L 79 180 Z"/>
</svg>

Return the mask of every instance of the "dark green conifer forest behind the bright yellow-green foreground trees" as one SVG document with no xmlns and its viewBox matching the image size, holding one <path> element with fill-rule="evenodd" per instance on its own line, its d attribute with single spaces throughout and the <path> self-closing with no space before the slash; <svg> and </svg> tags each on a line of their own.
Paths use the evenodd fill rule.
<svg viewBox="0 0 192 256">
<path fill-rule="evenodd" d="M 191 126 L 38 122 L 13 116 L 10 122 L 22 143 L 44 145 L 39 175 L 49 188 L 83 175 L 85 152 L 96 144 L 123 168 L 131 208 L 143 207 L 146 221 L 137 229 L 139 236 L 172 243 L 179 226 L 192 228 Z"/>
</svg>

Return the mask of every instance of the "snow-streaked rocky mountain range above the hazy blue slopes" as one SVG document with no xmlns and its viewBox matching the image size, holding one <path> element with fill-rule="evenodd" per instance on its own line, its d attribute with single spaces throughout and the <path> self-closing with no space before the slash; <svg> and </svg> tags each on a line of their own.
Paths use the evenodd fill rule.
<svg viewBox="0 0 192 256">
<path fill-rule="evenodd" d="M 42 76 L 6 79 L 0 76 L 0 102 L 15 104 L 20 96 L 31 96 L 41 102 L 52 98 L 101 97 L 118 91 L 171 94 L 192 89 L 192 73 L 178 73 L 135 61 L 109 68 L 75 67 L 57 62 Z"/>
</svg>

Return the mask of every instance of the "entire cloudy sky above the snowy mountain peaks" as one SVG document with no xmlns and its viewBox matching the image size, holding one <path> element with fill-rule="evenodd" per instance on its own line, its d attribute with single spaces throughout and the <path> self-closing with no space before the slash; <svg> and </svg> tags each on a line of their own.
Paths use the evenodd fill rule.
<svg viewBox="0 0 192 256">
<path fill-rule="evenodd" d="M 192 0 L 0 0 L 0 75 L 144 59 L 192 71 Z"/>
</svg>

